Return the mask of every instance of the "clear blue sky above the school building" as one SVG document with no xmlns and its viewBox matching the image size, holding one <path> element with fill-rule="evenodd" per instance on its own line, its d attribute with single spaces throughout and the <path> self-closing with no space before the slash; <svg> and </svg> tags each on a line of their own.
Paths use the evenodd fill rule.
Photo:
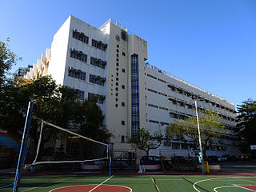
<svg viewBox="0 0 256 192">
<path fill-rule="evenodd" d="M 1 2 L 0 40 L 31 65 L 70 14 L 101 26 L 114 18 L 148 42 L 148 62 L 234 105 L 256 99 L 256 1 Z"/>
</svg>

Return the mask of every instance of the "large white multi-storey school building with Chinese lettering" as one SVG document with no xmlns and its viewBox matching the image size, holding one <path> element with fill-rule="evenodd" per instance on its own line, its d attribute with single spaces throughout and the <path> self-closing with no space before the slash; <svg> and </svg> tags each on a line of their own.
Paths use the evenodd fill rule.
<svg viewBox="0 0 256 192">
<path fill-rule="evenodd" d="M 165 130 L 175 118 L 195 115 L 192 95 L 202 98 L 199 109 L 216 111 L 230 130 L 235 126 L 234 104 L 174 77 L 147 60 L 147 42 L 112 19 L 99 29 L 70 16 L 54 35 L 51 49 L 26 74 L 51 74 L 57 83 L 77 90 L 78 98 L 98 97 L 104 124 L 113 133 L 114 151 L 133 151 L 129 138 L 141 127 Z M 42 69 L 43 68 L 43 69 Z M 222 135 L 225 145 L 211 154 L 234 154 L 234 136 Z M 187 154 L 179 141 L 164 143 L 154 154 Z"/>
</svg>

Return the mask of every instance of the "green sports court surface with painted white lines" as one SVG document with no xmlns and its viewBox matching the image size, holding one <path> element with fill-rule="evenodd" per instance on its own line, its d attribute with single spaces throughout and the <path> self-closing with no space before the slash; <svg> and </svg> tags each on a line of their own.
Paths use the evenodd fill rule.
<svg viewBox="0 0 256 192">
<path fill-rule="evenodd" d="M 88 175 L 30 175 L 23 176 L 19 187 L 22 191 L 48 192 L 64 186 L 97 186 L 106 181 L 107 176 Z M 13 189 L 13 178 L 0 176 L 0 191 L 10 192 Z M 154 184 L 155 183 L 155 184 Z M 114 175 L 112 178 L 102 183 L 102 186 L 126 186 L 134 192 L 243 192 L 256 191 L 256 176 L 185 176 L 185 175 Z M 106 187 L 91 190 L 58 190 L 58 191 L 83 191 L 102 192 L 115 191 Z M 249 190 L 250 189 L 250 190 Z M 131 190 L 117 190 L 131 191 Z"/>
</svg>

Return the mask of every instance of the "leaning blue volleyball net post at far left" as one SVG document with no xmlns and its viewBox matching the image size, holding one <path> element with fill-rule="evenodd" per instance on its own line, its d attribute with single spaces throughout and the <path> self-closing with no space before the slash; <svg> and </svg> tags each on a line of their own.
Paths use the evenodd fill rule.
<svg viewBox="0 0 256 192">
<path fill-rule="evenodd" d="M 23 167 L 23 162 L 26 154 L 26 142 L 27 142 L 28 135 L 30 133 L 30 122 L 32 118 L 33 107 L 34 107 L 33 102 L 29 102 L 29 106 L 27 108 L 27 113 L 26 113 L 26 122 L 23 130 L 22 144 L 19 150 L 18 165 L 16 169 L 13 192 L 18 192 L 18 185 L 21 180 L 22 167 Z"/>
</svg>

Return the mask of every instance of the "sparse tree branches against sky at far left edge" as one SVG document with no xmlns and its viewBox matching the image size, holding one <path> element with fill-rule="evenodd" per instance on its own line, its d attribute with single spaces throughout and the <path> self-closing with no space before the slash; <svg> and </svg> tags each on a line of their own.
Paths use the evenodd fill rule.
<svg viewBox="0 0 256 192">
<path fill-rule="evenodd" d="M 18 60 L 22 58 L 18 58 L 14 52 L 9 49 L 10 38 L 7 38 L 6 42 L 0 41 L 0 87 L 6 81 L 6 74 L 11 69 Z"/>
</svg>

